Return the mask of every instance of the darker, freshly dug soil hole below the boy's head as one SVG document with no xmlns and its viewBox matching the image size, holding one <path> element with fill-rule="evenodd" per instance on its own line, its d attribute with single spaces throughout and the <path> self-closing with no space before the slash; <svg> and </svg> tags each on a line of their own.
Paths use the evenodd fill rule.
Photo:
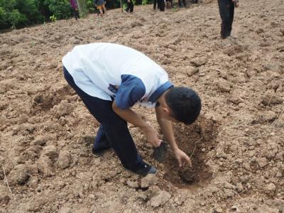
<svg viewBox="0 0 284 213">
<path fill-rule="evenodd" d="M 165 160 L 165 180 L 178 187 L 188 185 L 204 185 L 212 178 L 212 171 L 206 165 L 207 152 L 216 147 L 217 122 L 201 117 L 195 124 L 175 126 L 175 138 L 179 147 L 190 156 L 192 168 L 179 168 L 173 155 Z"/>
</svg>

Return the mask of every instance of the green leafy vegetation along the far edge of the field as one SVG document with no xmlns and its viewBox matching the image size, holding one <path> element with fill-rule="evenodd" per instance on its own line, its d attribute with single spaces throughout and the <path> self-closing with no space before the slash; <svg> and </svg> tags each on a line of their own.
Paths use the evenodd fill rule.
<svg viewBox="0 0 284 213">
<path fill-rule="evenodd" d="M 122 0 L 125 2 L 124 0 Z M 148 4 L 148 0 L 133 0 Z M 93 13 L 94 0 L 77 0 L 80 16 Z M 107 0 L 108 9 L 120 7 L 120 0 Z M 0 30 L 23 28 L 45 21 L 57 21 L 73 15 L 69 0 L 0 0 Z"/>
</svg>

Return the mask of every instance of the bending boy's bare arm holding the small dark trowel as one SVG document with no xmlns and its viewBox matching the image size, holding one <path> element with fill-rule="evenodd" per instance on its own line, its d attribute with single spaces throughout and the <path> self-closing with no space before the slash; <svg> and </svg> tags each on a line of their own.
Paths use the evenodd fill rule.
<svg viewBox="0 0 284 213">
<path fill-rule="evenodd" d="M 153 144 L 155 147 L 160 146 L 158 131 L 156 131 L 151 124 L 143 121 L 141 116 L 136 114 L 131 109 L 120 109 L 117 107 L 115 102 L 112 103 L 112 109 L 118 116 L 121 117 L 121 119 L 124 119 L 124 121 L 128 121 L 134 126 L 138 126 L 142 131 L 145 131 L 149 143 Z"/>
</svg>

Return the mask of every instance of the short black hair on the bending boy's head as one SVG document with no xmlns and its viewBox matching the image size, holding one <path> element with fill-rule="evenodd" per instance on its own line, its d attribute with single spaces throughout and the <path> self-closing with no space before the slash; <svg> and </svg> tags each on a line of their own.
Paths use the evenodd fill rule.
<svg viewBox="0 0 284 213">
<path fill-rule="evenodd" d="M 189 125 L 200 115 L 201 99 L 198 94 L 187 87 L 173 87 L 165 94 L 165 102 L 170 107 L 174 119 Z"/>
</svg>

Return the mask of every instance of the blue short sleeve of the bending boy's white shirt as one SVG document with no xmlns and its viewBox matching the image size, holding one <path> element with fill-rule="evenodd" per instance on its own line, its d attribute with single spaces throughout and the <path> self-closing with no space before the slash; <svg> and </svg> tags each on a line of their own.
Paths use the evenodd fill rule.
<svg viewBox="0 0 284 213">
<path fill-rule="evenodd" d="M 121 85 L 114 102 L 120 109 L 129 109 L 142 99 L 145 93 L 146 87 L 140 78 L 133 75 L 121 75 Z"/>
</svg>

